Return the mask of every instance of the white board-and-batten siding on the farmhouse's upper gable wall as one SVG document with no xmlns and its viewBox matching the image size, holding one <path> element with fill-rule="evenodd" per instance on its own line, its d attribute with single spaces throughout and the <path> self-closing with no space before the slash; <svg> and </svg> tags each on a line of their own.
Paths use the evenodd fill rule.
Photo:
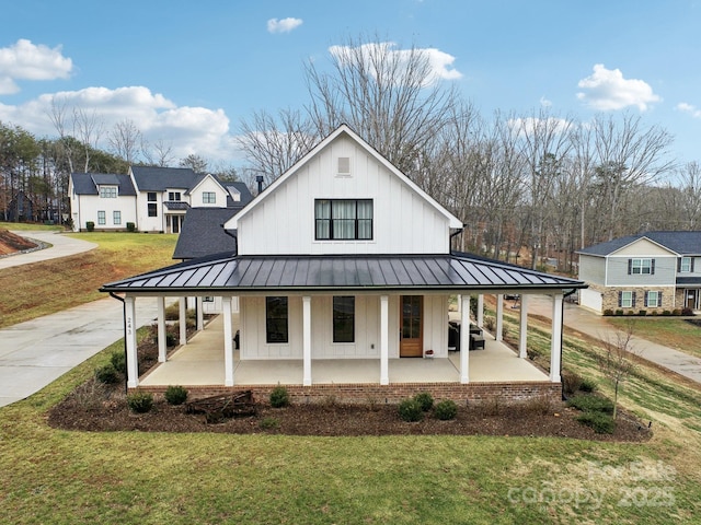
<svg viewBox="0 0 701 525">
<path fill-rule="evenodd" d="M 337 175 L 338 158 L 350 175 Z M 372 199 L 371 241 L 315 241 L 315 199 Z M 354 140 L 341 136 L 238 223 L 239 255 L 446 254 L 448 218 Z"/>
</svg>

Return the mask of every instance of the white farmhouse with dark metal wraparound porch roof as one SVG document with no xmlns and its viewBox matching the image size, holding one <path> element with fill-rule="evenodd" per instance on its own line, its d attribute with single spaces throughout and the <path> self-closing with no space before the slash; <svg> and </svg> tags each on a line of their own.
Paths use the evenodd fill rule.
<svg viewBox="0 0 701 525">
<path fill-rule="evenodd" d="M 217 385 L 226 389 L 279 383 L 296 387 L 299 396 L 329 395 L 336 388 L 341 398 L 360 392 L 366 398 L 389 399 L 416 388 L 443 388 L 444 396 L 453 398 L 560 394 L 563 296 L 585 284 L 451 252 L 451 234 L 462 230 L 462 222 L 347 126 L 321 141 L 222 226 L 210 228 L 235 232 L 235 247 L 218 235 L 226 250 L 215 246 L 216 255 L 102 288 L 125 301 L 130 388 L 177 381 L 209 392 Z M 518 353 L 506 349 L 501 354 L 508 366 L 492 358 L 506 348 L 504 293 L 522 298 Z M 498 300 L 496 329 L 479 355 L 484 372 L 471 372 L 471 354 L 479 352 L 468 349 L 485 346 L 484 338 L 480 340 L 484 294 Z M 552 298 L 548 374 L 525 359 L 530 294 Z M 172 362 L 162 343 L 160 368 L 142 378 L 130 327 L 141 298 L 157 298 L 162 311 L 166 296 L 182 298 L 181 315 L 185 298 L 220 298 L 220 350 L 214 354 L 220 361 L 211 361 L 211 339 L 208 350 L 193 352 L 187 360 L 173 357 Z M 451 296 L 459 298 L 457 315 L 464 327 L 459 352 L 449 351 Z M 479 305 L 475 319 L 470 318 L 471 296 Z M 161 330 L 163 324 L 159 316 Z M 203 328 L 202 320 L 198 325 Z M 471 336 L 471 325 L 478 325 L 476 336 Z M 232 342 L 237 331 L 239 350 Z M 179 351 L 196 346 L 198 337 L 188 342 L 181 332 Z M 205 352 L 211 375 L 203 378 L 194 362 L 197 355 L 205 359 Z M 180 375 L 169 377 L 169 366 Z M 510 366 L 515 372 L 509 376 Z M 412 373 L 404 375 L 410 369 Z"/>
</svg>

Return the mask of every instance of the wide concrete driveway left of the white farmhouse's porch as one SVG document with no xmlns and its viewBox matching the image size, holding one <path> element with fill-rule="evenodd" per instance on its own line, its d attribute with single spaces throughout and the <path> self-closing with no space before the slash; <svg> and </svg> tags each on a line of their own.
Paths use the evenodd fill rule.
<svg viewBox="0 0 701 525">
<path fill-rule="evenodd" d="M 122 302 L 101 299 L 0 329 L 0 407 L 38 392 L 124 337 Z M 137 326 L 157 317 L 156 299 L 137 299 Z"/>
</svg>

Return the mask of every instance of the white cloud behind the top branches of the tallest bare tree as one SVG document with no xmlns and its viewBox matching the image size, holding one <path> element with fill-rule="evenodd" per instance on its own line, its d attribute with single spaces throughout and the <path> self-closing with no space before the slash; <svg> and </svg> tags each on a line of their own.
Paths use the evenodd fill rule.
<svg viewBox="0 0 701 525">
<path fill-rule="evenodd" d="M 412 52 L 418 52 L 424 56 L 430 67 L 430 72 L 426 83 L 433 83 L 437 80 L 457 80 L 462 78 L 462 73 L 455 68 L 451 68 L 456 57 L 448 55 L 439 49 L 433 47 L 421 49 L 394 49 L 397 44 L 393 42 L 383 42 L 379 44 L 363 44 L 359 47 L 349 46 L 331 46 L 329 52 L 338 60 L 341 63 L 349 62 L 357 58 L 358 54 L 363 58 L 366 65 L 372 68 L 372 65 L 377 61 L 374 57 L 387 55 L 389 61 L 398 60 L 399 63 L 409 63 Z M 374 73 L 376 73 L 374 71 Z"/>
</svg>

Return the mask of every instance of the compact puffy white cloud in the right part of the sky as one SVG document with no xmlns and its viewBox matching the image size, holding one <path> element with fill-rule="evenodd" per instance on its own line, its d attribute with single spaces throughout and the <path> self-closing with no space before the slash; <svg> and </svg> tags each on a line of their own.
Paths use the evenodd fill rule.
<svg viewBox="0 0 701 525">
<path fill-rule="evenodd" d="M 645 112 L 650 104 L 662 101 L 646 82 L 624 79 L 619 69 L 606 69 L 602 63 L 594 66 L 594 73 L 577 84 L 585 90 L 577 93 L 585 104 L 599 110 L 623 109 L 636 106 Z"/>
</svg>

